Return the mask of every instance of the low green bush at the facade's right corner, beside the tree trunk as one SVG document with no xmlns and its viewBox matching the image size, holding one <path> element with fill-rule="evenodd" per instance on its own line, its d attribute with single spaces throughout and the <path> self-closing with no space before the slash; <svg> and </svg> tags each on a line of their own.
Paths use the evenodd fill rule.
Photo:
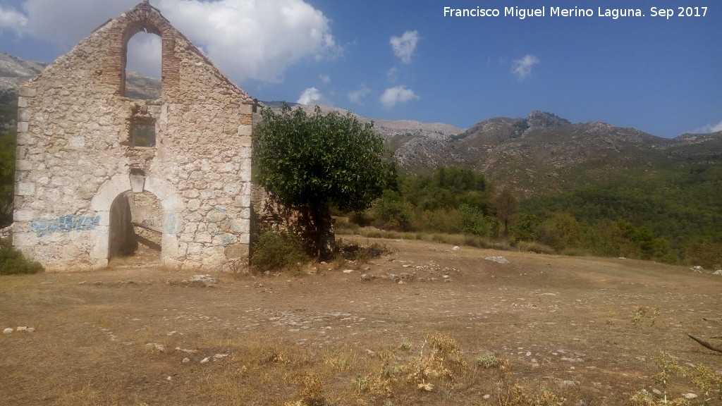
<svg viewBox="0 0 722 406">
<path fill-rule="evenodd" d="M 253 244 L 251 269 L 254 272 L 273 270 L 300 270 L 308 262 L 303 251 L 303 241 L 291 233 L 266 231 L 260 233 Z"/>
</svg>

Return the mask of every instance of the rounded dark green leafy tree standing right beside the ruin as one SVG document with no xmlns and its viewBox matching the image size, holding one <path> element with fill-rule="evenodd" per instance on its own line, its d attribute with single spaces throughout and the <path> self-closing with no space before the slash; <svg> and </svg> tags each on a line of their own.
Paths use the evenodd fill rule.
<svg viewBox="0 0 722 406">
<path fill-rule="evenodd" d="M 284 104 L 261 116 L 253 137 L 256 181 L 308 214 L 310 251 L 327 258 L 334 248 L 331 207 L 366 210 L 383 191 L 391 171 L 383 161 L 383 139 L 373 124 L 351 113 L 322 114 L 318 106 L 309 115 Z"/>
</svg>

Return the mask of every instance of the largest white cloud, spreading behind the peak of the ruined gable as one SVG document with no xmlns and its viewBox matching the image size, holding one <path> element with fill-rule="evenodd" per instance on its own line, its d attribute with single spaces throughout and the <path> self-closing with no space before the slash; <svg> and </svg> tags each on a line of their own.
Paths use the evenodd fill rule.
<svg viewBox="0 0 722 406">
<path fill-rule="evenodd" d="M 24 14 L 0 8 L 0 29 L 40 38 L 65 52 L 138 3 L 25 0 Z M 329 19 L 303 0 L 151 0 L 151 4 L 236 82 L 282 82 L 285 70 L 298 61 L 333 58 L 342 51 L 331 35 Z"/>
</svg>

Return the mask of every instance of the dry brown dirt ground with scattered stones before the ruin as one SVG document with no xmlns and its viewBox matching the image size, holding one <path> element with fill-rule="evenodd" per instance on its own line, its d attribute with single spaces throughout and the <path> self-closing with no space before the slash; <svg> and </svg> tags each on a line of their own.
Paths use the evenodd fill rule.
<svg viewBox="0 0 722 406">
<path fill-rule="evenodd" d="M 353 367 L 339 368 L 337 376 L 352 375 L 332 382 L 329 359 L 339 354 L 359 365 L 364 354 L 399 346 L 416 354 L 436 333 L 453 337 L 469 363 L 506 359 L 514 380 L 552 388 L 569 405 L 623 405 L 640 389 L 664 389 L 652 379 L 661 353 L 722 372 L 722 353 L 686 334 L 722 346 L 720 276 L 629 259 L 375 241 L 391 254 L 336 269 L 318 264 L 308 276 L 212 273 L 219 281 L 206 287 L 183 282 L 206 272 L 129 265 L 0 277 L 0 329 L 35 329 L 0 334 L 0 404 L 290 404 L 292 384 L 223 400 L 220 376 L 238 373 L 230 385 L 271 381 L 260 367 L 253 379 L 239 372 L 253 369 L 239 341 L 266 350 L 283 343 L 288 358 L 303 353 L 308 365 L 325 359 L 318 373 L 328 373 L 333 405 L 501 404 L 481 375 L 419 397 L 364 395 Z M 701 404 L 690 381 L 667 390 L 697 394 Z"/>
</svg>

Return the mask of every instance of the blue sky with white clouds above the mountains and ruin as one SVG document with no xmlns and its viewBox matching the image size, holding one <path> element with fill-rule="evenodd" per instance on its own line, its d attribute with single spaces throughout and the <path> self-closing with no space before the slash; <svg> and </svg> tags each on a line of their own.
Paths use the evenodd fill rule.
<svg viewBox="0 0 722 406">
<path fill-rule="evenodd" d="M 0 0 L 0 51 L 51 62 L 139 0 Z M 254 98 L 461 128 L 529 111 L 661 137 L 722 130 L 722 5 L 689 0 L 151 0 Z M 710 4 L 711 3 L 711 4 Z M 679 7 L 704 7 L 679 17 Z M 498 9 L 499 17 L 445 17 Z M 505 16 L 544 8 L 544 17 Z M 552 17 L 552 7 L 592 17 Z M 651 8 L 673 9 L 653 17 Z M 599 8 L 644 17 L 599 17 Z M 684 9 L 687 11 L 687 9 Z M 693 14 L 703 9 L 691 9 Z M 157 37 L 129 69 L 157 72 Z M 155 45 L 154 45 L 155 44 Z M 132 55 L 130 54 L 132 52 Z"/>
</svg>

